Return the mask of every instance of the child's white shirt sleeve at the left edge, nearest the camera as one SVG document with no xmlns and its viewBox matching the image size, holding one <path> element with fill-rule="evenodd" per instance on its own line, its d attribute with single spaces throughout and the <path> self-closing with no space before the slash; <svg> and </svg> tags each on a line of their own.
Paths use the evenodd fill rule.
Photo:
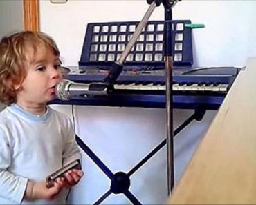
<svg viewBox="0 0 256 205">
<path fill-rule="evenodd" d="M 10 140 L 7 132 L 0 128 L 0 197 L 21 204 L 28 179 L 8 172 L 11 164 Z"/>
</svg>

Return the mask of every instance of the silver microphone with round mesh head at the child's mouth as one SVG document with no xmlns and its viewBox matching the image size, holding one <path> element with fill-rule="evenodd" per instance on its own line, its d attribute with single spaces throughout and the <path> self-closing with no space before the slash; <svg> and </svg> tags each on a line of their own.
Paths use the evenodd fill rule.
<svg viewBox="0 0 256 205">
<path fill-rule="evenodd" d="M 55 86 L 58 99 L 69 100 L 72 97 L 88 97 L 89 95 L 107 95 L 107 86 L 103 83 L 82 84 L 63 79 Z"/>
</svg>

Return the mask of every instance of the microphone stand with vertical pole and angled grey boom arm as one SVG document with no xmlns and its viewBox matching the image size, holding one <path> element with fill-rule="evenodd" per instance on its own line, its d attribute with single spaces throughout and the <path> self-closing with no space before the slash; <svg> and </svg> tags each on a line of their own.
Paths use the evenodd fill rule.
<svg viewBox="0 0 256 205">
<path fill-rule="evenodd" d="M 122 72 L 123 63 L 129 55 L 131 48 L 136 43 L 136 40 L 140 36 L 143 28 L 147 25 L 147 21 L 151 16 L 152 12 L 163 3 L 165 8 L 165 32 L 164 32 L 164 48 L 165 48 L 165 72 L 166 72 L 166 131 L 167 131 L 167 182 L 168 182 L 168 195 L 172 192 L 174 187 L 174 132 L 173 132 L 173 100 L 172 100 L 172 69 L 173 69 L 173 57 L 172 57 L 172 8 L 181 0 L 147 0 L 150 4 L 145 16 L 136 27 L 134 35 L 131 37 L 127 46 L 125 46 L 124 52 L 114 62 L 109 70 L 109 75 L 103 80 L 103 84 L 108 85 L 109 91 L 113 91 L 113 84 L 118 79 L 118 76 Z M 109 92 L 108 92 L 109 93 Z"/>
</svg>

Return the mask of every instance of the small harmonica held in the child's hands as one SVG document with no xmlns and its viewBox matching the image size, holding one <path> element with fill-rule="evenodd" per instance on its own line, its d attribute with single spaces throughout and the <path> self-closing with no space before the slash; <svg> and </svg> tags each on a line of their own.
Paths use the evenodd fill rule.
<svg viewBox="0 0 256 205">
<path fill-rule="evenodd" d="M 71 170 L 74 168 L 81 169 L 81 164 L 79 159 L 67 164 L 66 166 L 63 166 L 62 168 L 56 170 L 51 175 L 48 175 L 48 177 L 46 177 L 46 186 L 48 188 L 50 188 L 51 186 L 54 186 L 54 182 L 57 178 L 64 177 L 65 173 L 68 172 L 68 170 Z"/>
</svg>

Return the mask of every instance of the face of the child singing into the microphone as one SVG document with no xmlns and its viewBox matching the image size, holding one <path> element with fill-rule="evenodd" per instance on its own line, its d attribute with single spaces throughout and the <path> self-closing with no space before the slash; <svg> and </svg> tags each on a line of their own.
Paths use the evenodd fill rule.
<svg viewBox="0 0 256 205">
<path fill-rule="evenodd" d="M 27 59 L 33 59 L 33 63 L 26 64 L 27 75 L 19 85 L 17 103 L 46 104 L 55 98 L 55 86 L 62 79 L 60 59 L 42 44 L 37 46 L 37 52 L 28 46 Z"/>
</svg>

